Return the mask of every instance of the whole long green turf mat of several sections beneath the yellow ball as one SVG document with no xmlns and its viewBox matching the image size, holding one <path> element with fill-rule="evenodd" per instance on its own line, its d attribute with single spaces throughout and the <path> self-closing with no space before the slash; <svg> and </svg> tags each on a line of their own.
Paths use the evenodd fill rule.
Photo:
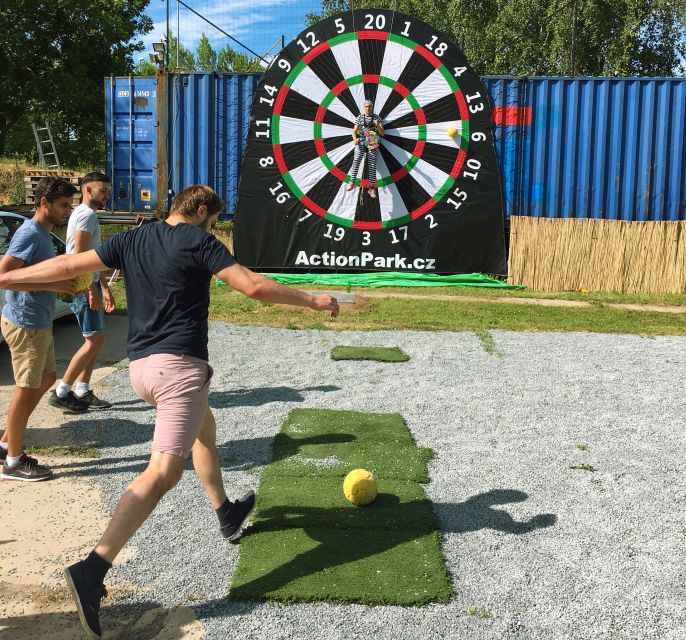
<svg viewBox="0 0 686 640">
<path fill-rule="evenodd" d="M 452 586 L 421 483 L 430 449 L 400 414 L 295 409 L 274 440 L 253 526 L 241 538 L 237 600 L 422 605 Z M 373 471 L 379 495 L 355 507 L 343 495 L 354 468 Z"/>
</svg>

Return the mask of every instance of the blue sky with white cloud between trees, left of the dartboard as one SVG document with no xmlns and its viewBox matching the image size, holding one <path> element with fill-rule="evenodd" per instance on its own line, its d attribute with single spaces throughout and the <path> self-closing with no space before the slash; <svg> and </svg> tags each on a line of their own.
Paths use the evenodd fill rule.
<svg viewBox="0 0 686 640">
<path fill-rule="evenodd" d="M 184 0 L 196 11 L 217 24 L 224 31 L 248 46 L 253 51 L 264 54 L 283 34 L 288 44 L 305 28 L 305 14 L 317 12 L 321 7 L 319 0 Z M 137 54 L 147 59 L 152 51 L 152 43 L 160 39 L 167 29 L 167 0 L 150 0 L 146 13 L 153 19 L 155 28 L 143 38 L 145 51 Z M 181 43 L 195 50 L 204 32 L 215 50 L 227 42 L 234 49 L 247 53 L 212 26 L 188 11 L 176 0 L 169 0 L 170 29 L 177 31 L 177 6 Z M 277 46 L 272 53 L 278 52 Z M 138 62 L 134 59 L 134 62 Z"/>
</svg>

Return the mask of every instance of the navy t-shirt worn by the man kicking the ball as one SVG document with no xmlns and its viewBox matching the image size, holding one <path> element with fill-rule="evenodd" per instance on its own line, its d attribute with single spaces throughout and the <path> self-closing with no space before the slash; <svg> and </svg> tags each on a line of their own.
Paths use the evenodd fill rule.
<svg viewBox="0 0 686 640">
<path fill-rule="evenodd" d="M 153 353 L 208 360 L 207 314 L 212 274 L 236 263 L 213 235 L 191 224 L 144 224 L 95 249 L 125 273 L 130 360 Z"/>
</svg>

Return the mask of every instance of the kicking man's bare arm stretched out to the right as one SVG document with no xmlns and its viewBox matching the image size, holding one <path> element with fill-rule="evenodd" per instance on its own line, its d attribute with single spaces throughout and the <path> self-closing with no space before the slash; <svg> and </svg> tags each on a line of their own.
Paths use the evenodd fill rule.
<svg viewBox="0 0 686 640">
<path fill-rule="evenodd" d="M 335 318 L 339 313 L 338 300 L 329 295 L 313 296 L 300 289 L 285 287 L 270 280 L 240 264 L 234 264 L 215 274 L 226 282 L 232 289 L 243 293 L 249 298 L 273 302 L 274 304 L 292 304 L 299 307 L 309 307 L 315 311 L 330 311 Z"/>
</svg>

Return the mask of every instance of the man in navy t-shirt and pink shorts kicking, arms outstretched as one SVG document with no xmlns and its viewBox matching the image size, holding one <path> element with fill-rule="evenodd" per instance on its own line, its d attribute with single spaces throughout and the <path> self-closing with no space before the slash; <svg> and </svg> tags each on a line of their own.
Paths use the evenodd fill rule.
<svg viewBox="0 0 686 640">
<path fill-rule="evenodd" d="M 216 426 L 208 405 L 212 368 L 207 321 L 210 281 L 221 278 L 257 300 L 293 304 L 338 315 L 329 295 L 310 295 L 239 265 L 209 231 L 223 208 L 209 187 L 181 191 L 164 222 L 120 233 L 101 247 L 66 255 L 3 279 L 27 283 L 58 280 L 106 268 L 121 269 L 128 301 L 129 376 L 136 392 L 157 409 L 147 469 L 121 497 L 105 533 L 89 556 L 65 569 L 65 578 L 91 637 L 100 637 L 103 581 L 119 551 L 162 496 L 180 479 L 186 458 L 195 468 L 219 518 L 234 539 L 255 506 L 255 492 L 230 501 L 216 450 Z"/>
</svg>

